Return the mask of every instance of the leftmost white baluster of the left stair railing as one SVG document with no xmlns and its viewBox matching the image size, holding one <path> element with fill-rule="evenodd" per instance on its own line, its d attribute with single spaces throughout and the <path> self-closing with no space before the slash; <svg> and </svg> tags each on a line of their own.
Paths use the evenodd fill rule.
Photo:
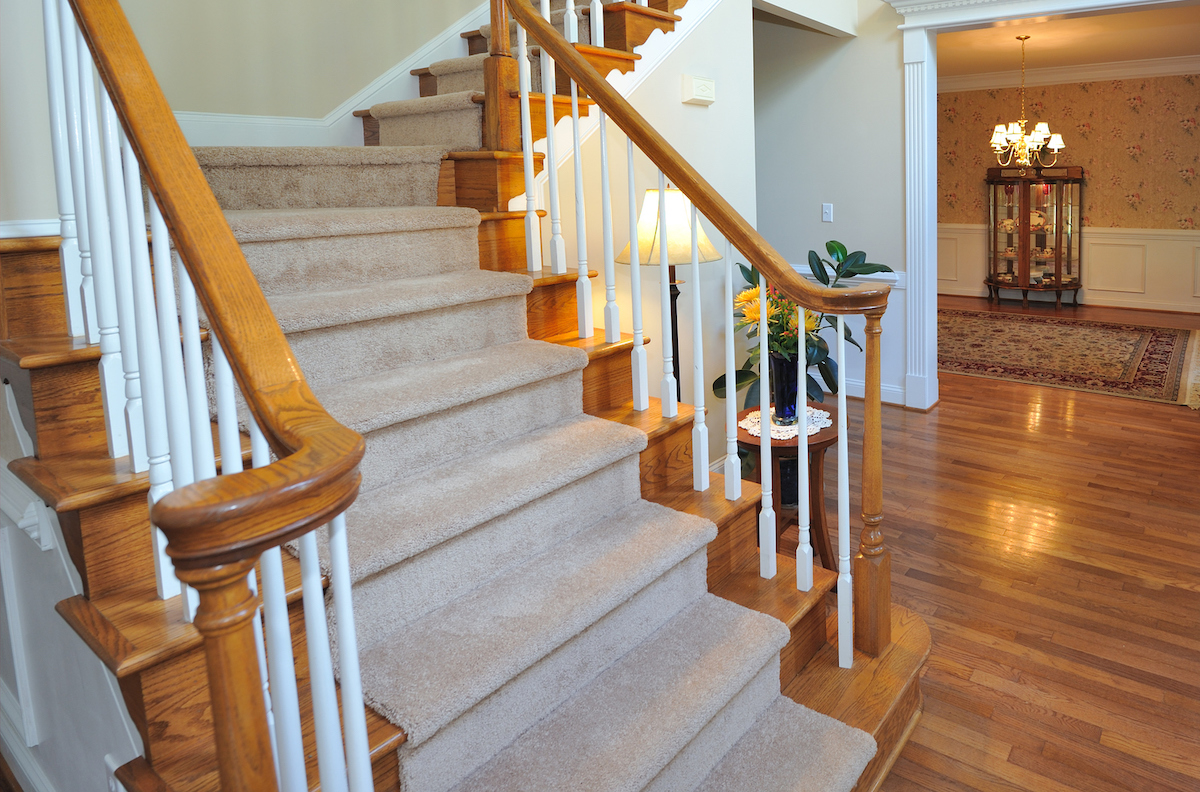
<svg viewBox="0 0 1200 792">
<path fill-rule="evenodd" d="M 71 188 L 71 152 L 67 140 L 67 109 L 62 79 L 62 38 L 59 1 L 42 0 L 42 30 L 46 34 L 46 89 L 50 110 L 50 152 L 54 157 L 54 188 L 59 204 L 59 262 L 62 268 L 62 299 L 66 302 L 67 332 L 82 336 L 83 300 L 79 287 L 79 240 L 76 238 L 74 191 Z"/>
</svg>

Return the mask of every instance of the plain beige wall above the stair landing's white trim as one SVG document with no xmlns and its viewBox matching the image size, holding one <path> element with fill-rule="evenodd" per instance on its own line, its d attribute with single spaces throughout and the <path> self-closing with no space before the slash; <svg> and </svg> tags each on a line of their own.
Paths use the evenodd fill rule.
<svg viewBox="0 0 1200 792">
<path fill-rule="evenodd" d="M 480 0 L 122 0 L 174 110 L 322 118 Z"/>
</svg>

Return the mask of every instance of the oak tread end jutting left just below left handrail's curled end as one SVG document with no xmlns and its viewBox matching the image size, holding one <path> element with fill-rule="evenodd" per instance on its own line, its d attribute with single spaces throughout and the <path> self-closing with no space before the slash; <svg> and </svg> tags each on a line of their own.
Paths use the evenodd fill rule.
<svg viewBox="0 0 1200 792">
<path fill-rule="evenodd" d="M 300 562 L 283 556 L 283 584 L 288 604 L 301 598 Z M 323 578 L 328 586 L 328 577 Z M 89 600 L 82 595 L 54 606 L 109 671 L 126 677 L 203 643 L 199 631 L 184 620 L 179 596 L 131 596 L 114 593 Z"/>
</svg>

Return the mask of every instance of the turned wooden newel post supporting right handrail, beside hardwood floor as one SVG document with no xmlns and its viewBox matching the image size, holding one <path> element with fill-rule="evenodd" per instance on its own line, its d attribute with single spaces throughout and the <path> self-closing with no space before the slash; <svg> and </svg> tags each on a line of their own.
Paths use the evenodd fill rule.
<svg viewBox="0 0 1200 792">
<path fill-rule="evenodd" d="M 883 547 L 883 438 L 880 409 L 880 317 L 866 314 L 863 391 L 863 533 L 854 556 L 854 648 L 878 656 L 892 643 L 892 553 Z"/>
</svg>

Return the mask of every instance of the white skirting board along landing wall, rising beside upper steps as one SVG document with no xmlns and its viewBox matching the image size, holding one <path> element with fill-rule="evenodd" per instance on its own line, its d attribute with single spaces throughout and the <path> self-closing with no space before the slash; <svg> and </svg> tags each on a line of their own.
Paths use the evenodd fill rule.
<svg viewBox="0 0 1200 792">
<path fill-rule="evenodd" d="M 192 113 L 180 110 L 175 120 L 191 145 L 362 145 L 362 122 L 354 110 L 420 96 L 416 77 L 408 72 L 448 58 L 467 54 L 460 34 L 490 19 L 491 6 L 484 2 L 416 52 L 403 59 L 320 119 L 234 113 Z"/>
</svg>

